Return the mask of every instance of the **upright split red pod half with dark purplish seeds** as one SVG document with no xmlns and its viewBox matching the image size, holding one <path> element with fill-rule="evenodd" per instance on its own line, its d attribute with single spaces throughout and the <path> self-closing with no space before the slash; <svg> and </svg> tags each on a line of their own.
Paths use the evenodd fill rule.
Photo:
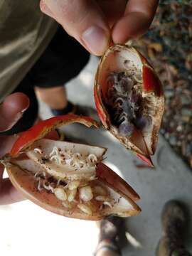
<svg viewBox="0 0 192 256">
<path fill-rule="evenodd" d="M 102 56 L 95 76 L 95 105 L 102 124 L 149 166 L 156 151 L 164 92 L 146 58 L 114 45 Z"/>
</svg>

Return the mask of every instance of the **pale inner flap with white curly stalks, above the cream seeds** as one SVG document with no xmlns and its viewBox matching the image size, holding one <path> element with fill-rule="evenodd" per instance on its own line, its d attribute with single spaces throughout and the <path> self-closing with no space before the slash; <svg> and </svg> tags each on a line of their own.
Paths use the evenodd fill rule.
<svg viewBox="0 0 192 256">
<path fill-rule="evenodd" d="M 106 149 L 70 142 L 41 139 L 26 154 L 41 164 L 48 174 L 58 178 L 76 180 L 79 177 L 94 178 L 96 164 L 102 161 Z"/>
</svg>

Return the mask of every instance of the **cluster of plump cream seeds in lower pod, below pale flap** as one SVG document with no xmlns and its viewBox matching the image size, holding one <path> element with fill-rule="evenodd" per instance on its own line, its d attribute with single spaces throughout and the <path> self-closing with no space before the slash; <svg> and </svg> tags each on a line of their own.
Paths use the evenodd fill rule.
<svg viewBox="0 0 192 256">
<path fill-rule="evenodd" d="M 114 203 L 110 193 L 105 188 L 94 183 L 82 183 L 80 181 L 64 182 L 54 180 L 46 173 L 36 173 L 38 191 L 46 189 L 53 193 L 62 205 L 71 210 L 78 207 L 83 213 L 92 215 L 96 210 L 102 210 L 105 206 L 112 208 Z"/>
</svg>

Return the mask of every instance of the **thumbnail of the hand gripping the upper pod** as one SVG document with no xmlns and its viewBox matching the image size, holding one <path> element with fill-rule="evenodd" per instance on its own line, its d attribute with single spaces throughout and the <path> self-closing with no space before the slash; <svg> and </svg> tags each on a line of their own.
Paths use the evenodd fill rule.
<svg viewBox="0 0 192 256">
<path fill-rule="evenodd" d="M 109 44 L 107 32 L 98 26 L 92 26 L 82 33 L 82 41 L 95 55 L 102 55 Z"/>
</svg>

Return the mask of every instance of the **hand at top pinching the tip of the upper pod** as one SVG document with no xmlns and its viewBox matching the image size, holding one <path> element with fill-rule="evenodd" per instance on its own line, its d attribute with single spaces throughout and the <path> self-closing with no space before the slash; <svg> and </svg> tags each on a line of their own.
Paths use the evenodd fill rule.
<svg viewBox="0 0 192 256">
<path fill-rule="evenodd" d="M 154 18 L 158 0 L 41 0 L 43 13 L 55 18 L 90 53 L 102 55 L 110 40 L 125 43 L 141 36 Z"/>
</svg>

